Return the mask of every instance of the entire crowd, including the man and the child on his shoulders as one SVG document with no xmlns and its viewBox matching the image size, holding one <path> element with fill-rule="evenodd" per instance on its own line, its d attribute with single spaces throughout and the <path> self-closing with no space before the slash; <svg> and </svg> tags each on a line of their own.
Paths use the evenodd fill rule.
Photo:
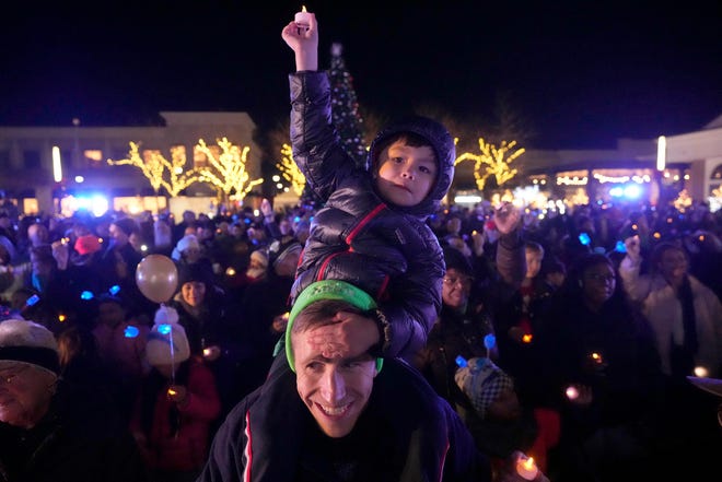
<svg viewBox="0 0 722 482">
<path fill-rule="evenodd" d="M 453 138 L 418 116 L 358 166 L 307 19 L 298 205 L 0 210 L 0 481 L 707 475 L 722 211 L 443 203 Z"/>
</svg>

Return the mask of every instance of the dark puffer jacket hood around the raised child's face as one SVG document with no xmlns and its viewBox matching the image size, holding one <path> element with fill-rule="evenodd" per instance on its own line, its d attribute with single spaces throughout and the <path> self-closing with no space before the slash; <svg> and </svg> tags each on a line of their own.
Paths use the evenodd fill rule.
<svg viewBox="0 0 722 482">
<path fill-rule="evenodd" d="M 388 125 L 376 134 L 376 138 L 371 143 L 371 149 L 369 149 L 369 157 L 366 160 L 368 171 L 374 169 L 376 166 L 380 154 L 379 146 L 389 137 L 400 132 L 411 132 L 428 139 L 436 154 L 439 175 L 436 176 L 436 183 L 429 191 L 429 196 L 417 205 L 409 208 L 396 207 L 398 210 L 409 214 L 428 216 L 438 211 L 441 200 L 449 192 L 449 188 L 454 179 L 454 161 L 456 160 L 454 138 L 452 138 L 444 126 L 428 117 L 410 116 L 403 118 Z"/>
</svg>

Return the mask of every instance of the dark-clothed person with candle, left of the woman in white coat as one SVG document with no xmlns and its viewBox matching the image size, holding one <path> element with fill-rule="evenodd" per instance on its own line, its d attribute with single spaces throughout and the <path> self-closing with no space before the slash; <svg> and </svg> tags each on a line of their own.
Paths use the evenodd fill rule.
<svg viewBox="0 0 722 482">
<path fill-rule="evenodd" d="M 552 480 L 555 470 L 560 482 L 645 480 L 662 400 L 660 357 L 612 259 L 579 258 L 540 317 L 528 378 L 536 383 L 526 389 L 537 407 L 560 414 Z"/>
</svg>

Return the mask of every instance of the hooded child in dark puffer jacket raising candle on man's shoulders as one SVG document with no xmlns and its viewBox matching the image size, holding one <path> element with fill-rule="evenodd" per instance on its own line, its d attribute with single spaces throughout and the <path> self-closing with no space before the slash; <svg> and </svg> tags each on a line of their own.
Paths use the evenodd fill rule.
<svg viewBox="0 0 722 482">
<path fill-rule="evenodd" d="M 345 337 L 361 337 L 377 353 L 410 358 L 423 346 L 441 308 L 443 254 L 427 224 L 454 177 L 455 148 L 449 131 L 427 117 L 389 125 L 371 144 L 359 168 L 331 125 L 330 84 L 318 71 L 318 24 L 290 22 L 282 37 L 295 52 L 289 75 L 293 158 L 315 197 L 324 202 L 291 292 L 336 279 L 371 294 L 376 326 L 346 320 L 316 338 L 333 350 Z"/>
</svg>

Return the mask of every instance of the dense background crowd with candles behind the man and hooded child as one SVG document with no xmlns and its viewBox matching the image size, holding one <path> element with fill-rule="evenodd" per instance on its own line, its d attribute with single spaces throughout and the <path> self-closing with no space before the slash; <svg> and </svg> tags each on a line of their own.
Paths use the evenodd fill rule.
<svg viewBox="0 0 722 482">
<path fill-rule="evenodd" d="M 107 396 L 153 480 L 195 480 L 225 415 L 269 373 L 316 212 L 264 202 L 258 215 L 187 211 L 177 223 L 3 216 L 3 318 L 56 337 L 59 378 Z M 443 247 L 442 306 L 428 343 L 408 357 L 477 447 L 499 468 L 522 450 L 555 481 L 620 480 L 662 459 L 694 471 L 695 460 L 719 454 L 717 400 L 686 380 L 722 375 L 719 214 L 703 204 L 522 212 L 521 282 L 499 269 L 494 214 L 480 203 L 429 218 Z M 135 279 L 149 254 L 168 256 L 178 272 L 166 305 L 188 348 L 176 352 L 173 383 L 149 357 L 159 305 Z M 171 385 L 197 397 L 202 413 L 170 402 Z M 187 398 L 180 405 L 194 407 Z M 173 447 L 152 420 L 174 434 Z M 179 457 L 163 451 L 184 437 L 202 443 Z"/>
</svg>

